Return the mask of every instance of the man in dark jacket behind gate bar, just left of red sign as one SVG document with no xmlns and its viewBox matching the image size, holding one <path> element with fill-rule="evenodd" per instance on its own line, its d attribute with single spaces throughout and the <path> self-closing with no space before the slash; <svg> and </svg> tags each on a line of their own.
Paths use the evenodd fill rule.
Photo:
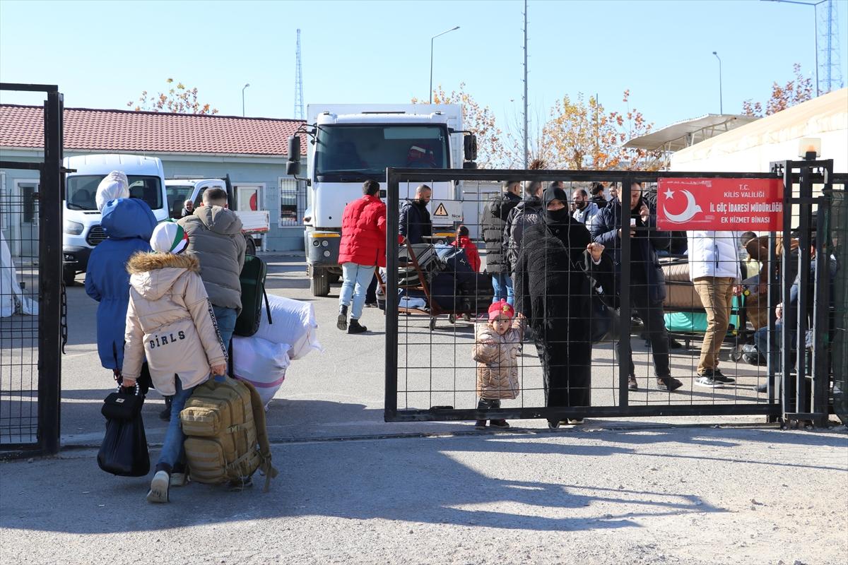
<svg viewBox="0 0 848 565">
<path fill-rule="evenodd" d="M 657 249 L 667 249 L 667 232 L 656 230 L 656 211 L 650 210 L 642 199 L 642 186 L 634 182 L 630 189 L 628 212 L 622 211 L 622 202 L 616 198 L 600 210 L 592 223 L 592 239 L 605 246 L 612 253 L 616 267 L 616 282 L 620 284 L 622 272 L 622 213 L 625 224 L 630 224 L 630 305 L 644 322 L 645 332 L 650 339 L 654 354 L 656 385 L 662 391 L 674 391 L 683 383 L 672 379 L 668 359 L 668 332 L 662 312 L 662 302 L 666 299 L 666 279 L 662 274 L 660 262 L 656 257 Z M 620 289 L 616 289 L 619 291 Z M 622 313 L 628 319 L 628 313 Z M 619 356 L 621 355 L 621 343 Z M 633 359 L 630 361 L 628 388 L 638 391 Z"/>
</svg>

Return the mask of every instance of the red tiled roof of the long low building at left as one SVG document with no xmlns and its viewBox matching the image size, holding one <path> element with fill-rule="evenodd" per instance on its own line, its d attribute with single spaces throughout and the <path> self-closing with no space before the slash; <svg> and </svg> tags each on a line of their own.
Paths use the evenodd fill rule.
<svg viewBox="0 0 848 565">
<path fill-rule="evenodd" d="M 0 147 L 42 148 L 42 113 L 40 106 L 0 104 Z M 288 136 L 303 124 L 299 119 L 64 108 L 64 149 L 284 157 Z"/>
</svg>

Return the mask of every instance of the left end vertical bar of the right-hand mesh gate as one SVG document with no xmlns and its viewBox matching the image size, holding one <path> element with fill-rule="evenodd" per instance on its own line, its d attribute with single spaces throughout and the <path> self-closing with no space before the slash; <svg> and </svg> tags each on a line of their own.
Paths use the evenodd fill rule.
<svg viewBox="0 0 848 565">
<path fill-rule="evenodd" d="M 383 418 L 398 413 L 398 233 L 399 183 L 386 169 L 386 396 Z"/>
</svg>

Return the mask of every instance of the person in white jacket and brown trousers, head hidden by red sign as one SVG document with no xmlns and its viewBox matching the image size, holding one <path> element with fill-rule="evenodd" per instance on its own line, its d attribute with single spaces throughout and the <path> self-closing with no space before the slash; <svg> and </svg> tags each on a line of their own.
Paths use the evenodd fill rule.
<svg viewBox="0 0 848 565">
<path fill-rule="evenodd" d="M 739 254 L 733 231 L 687 231 L 689 240 L 689 279 L 695 283 L 706 311 L 706 334 L 700 346 L 698 378 L 695 384 L 722 388 L 734 379 L 718 368 L 718 352 L 730 324 L 734 295 L 739 295 Z"/>
</svg>

